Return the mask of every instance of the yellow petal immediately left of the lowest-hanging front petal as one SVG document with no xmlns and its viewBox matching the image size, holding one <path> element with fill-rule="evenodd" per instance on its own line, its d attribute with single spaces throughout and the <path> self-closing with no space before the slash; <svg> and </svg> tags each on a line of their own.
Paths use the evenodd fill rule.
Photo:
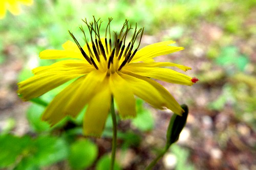
<svg viewBox="0 0 256 170">
<path fill-rule="evenodd" d="M 71 96 L 65 109 L 66 114 L 75 116 L 79 113 L 84 105 L 86 105 L 97 93 L 97 87 L 104 80 L 105 74 L 99 70 L 94 70 L 84 77 L 81 86 Z M 104 87 L 102 87 L 104 88 Z"/>
</svg>

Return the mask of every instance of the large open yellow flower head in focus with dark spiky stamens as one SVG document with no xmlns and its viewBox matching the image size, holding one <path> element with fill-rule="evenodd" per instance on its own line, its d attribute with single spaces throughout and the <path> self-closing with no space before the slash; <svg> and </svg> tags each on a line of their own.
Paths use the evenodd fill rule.
<svg viewBox="0 0 256 170">
<path fill-rule="evenodd" d="M 74 79 L 73 83 L 63 89 L 49 104 L 43 120 L 55 125 L 63 117 L 72 117 L 88 105 L 83 119 L 85 135 L 100 136 L 106 117 L 109 114 L 113 96 L 122 118 L 136 116 L 135 95 L 158 109 L 170 109 L 181 115 L 183 110 L 173 96 L 153 79 L 169 83 L 192 85 L 195 78 L 166 67 L 178 67 L 184 71 L 189 67 L 169 62 L 143 62 L 154 57 L 183 50 L 183 47 L 169 46 L 174 41 L 164 41 L 145 46 L 138 50 L 143 29 L 132 28 L 126 20 L 119 34 L 115 34 L 112 43 L 110 22 L 105 29 L 105 37 L 100 35 L 99 20 L 91 23 L 85 20 L 90 32 L 86 44 L 80 46 L 74 39 L 62 45 L 64 50 L 45 50 L 39 54 L 41 59 L 62 59 L 50 66 L 33 69 L 34 76 L 18 83 L 18 93 L 24 100 L 36 98 L 51 89 Z M 127 39 L 131 40 L 127 42 Z M 136 39 L 140 41 L 135 45 Z M 193 82 L 194 81 L 194 82 Z"/>
</svg>

